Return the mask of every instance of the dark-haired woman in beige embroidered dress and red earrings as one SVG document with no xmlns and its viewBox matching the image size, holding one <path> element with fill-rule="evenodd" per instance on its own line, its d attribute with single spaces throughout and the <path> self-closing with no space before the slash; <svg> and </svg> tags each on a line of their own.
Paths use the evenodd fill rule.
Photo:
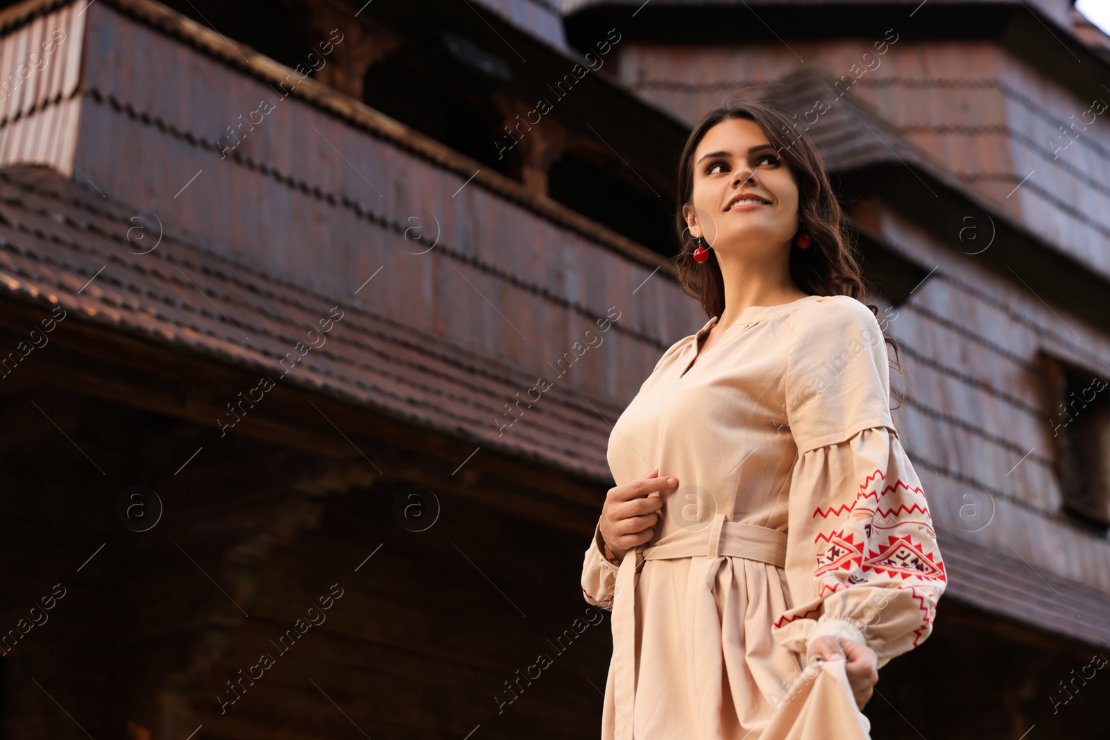
<svg viewBox="0 0 1110 740">
<path fill-rule="evenodd" d="M 771 720 L 821 660 L 844 661 L 856 726 L 819 737 L 866 737 L 878 668 L 928 637 L 946 584 L 890 416 L 898 345 L 861 302 L 817 150 L 780 111 L 709 112 L 678 191 L 680 282 L 710 318 L 609 437 L 617 485 L 582 575 L 613 611 L 603 738 L 787 737 Z"/>
</svg>

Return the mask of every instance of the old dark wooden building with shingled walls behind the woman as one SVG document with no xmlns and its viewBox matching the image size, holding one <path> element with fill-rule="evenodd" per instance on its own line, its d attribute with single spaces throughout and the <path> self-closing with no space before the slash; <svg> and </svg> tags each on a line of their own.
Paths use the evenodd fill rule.
<svg viewBox="0 0 1110 740">
<path fill-rule="evenodd" d="M 810 121 L 905 347 L 950 584 L 875 737 L 1104 733 L 1066 0 L 3 4 L 0 737 L 595 737 L 606 442 L 705 322 L 675 159 L 737 87 Z"/>
</svg>

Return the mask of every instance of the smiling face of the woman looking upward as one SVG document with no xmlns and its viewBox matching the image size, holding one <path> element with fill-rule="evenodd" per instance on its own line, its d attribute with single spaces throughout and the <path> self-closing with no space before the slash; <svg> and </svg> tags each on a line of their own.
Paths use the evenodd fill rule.
<svg viewBox="0 0 1110 740">
<path fill-rule="evenodd" d="M 798 231 L 798 185 L 755 121 L 725 119 L 694 152 L 692 236 L 720 255 L 769 257 Z"/>
</svg>

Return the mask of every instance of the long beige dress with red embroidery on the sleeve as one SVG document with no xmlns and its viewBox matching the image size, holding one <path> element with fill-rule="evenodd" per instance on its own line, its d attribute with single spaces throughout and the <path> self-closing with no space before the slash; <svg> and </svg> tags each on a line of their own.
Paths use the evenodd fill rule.
<svg viewBox="0 0 1110 740">
<path fill-rule="evenodd" d="M 698 357 L 716 321 L 664 353 L 609 436 L 617 485 L 657 467 L 678 488 L 619 568 L 599 530 L 586 550 L 585 599 L 613 611 L 603 740 L 786 737 L 764 730 L 810 638 L 866 643 L 882 667 L 928 637 L 944 592 L 871 311 L 844 295 L 753 306 Z M 824 737 L 866 737 L 847 711 L 860 726 Z"/>
</svg>

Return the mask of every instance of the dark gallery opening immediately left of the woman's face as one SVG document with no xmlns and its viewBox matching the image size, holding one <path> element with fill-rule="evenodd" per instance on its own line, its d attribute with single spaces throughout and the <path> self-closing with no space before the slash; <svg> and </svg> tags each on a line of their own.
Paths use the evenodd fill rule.
<svg viewBox="0 0 1110 740">
<path fill-rule="evenodd" d="M 662 197 L 637 192 L 589 162 L 564 154 L 547 173 L 554 201 L 670 257 L 678 252 L 673 216 Z"/>
</svg>

